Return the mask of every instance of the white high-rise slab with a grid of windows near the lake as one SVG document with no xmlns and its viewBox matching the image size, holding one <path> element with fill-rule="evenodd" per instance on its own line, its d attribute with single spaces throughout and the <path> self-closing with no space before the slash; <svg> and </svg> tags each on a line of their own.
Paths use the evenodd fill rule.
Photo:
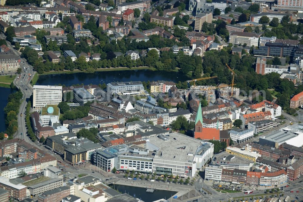
<svg viewBox="0 0 303 202">
<path fill-rule="evenodd" d="M 62 101 L 62 86 L 33 87 L 33 108 L 41 109 L 46 105 L 58 105 Z"/>
</svg>

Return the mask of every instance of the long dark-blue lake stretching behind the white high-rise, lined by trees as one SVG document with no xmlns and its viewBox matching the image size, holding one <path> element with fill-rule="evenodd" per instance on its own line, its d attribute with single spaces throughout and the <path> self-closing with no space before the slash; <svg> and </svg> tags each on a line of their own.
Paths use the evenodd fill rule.
<svg viewBox="0 0 303 202">
<path fill-rule="evenodd" d="M 94 73 L 68 73 L 68 74 L 47 74 L 40 75 L 36 85 L 62 84 L 72 86 L 73 84 L 99 84 L 110 82 L 127 81 L 186 81 L 190 78 L 182 73 L 173 71 L 153 71 L 148 69 L 121 70 L 121 71 L 100 71 Z"/>
</svg>

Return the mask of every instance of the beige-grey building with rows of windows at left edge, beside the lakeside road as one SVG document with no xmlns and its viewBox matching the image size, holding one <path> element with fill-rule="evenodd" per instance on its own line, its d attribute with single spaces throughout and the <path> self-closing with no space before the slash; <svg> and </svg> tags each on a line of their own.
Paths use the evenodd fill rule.
<svg viewBox="0 0 303 202">
<path fill-rule="evenodd" d="M 0 71 L 15 72 L 20 67 L 21 59 L 14 54 L 1 55 Z"/>
</svg>

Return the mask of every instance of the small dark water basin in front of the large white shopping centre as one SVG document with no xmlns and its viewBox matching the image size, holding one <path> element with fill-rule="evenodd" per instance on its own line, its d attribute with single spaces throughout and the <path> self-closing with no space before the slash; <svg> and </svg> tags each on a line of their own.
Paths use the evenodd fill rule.
<svg viewBox="0 0 303 202">
<path fill-rule="evenodd" d="M 111 185 L 111 187 L 115 190 L 118 190 L 122 194 L 126 193 L 136 198 L 141 198 L 141 200 L 145 202 L 152 202 L 159 199 L 169 199 L 171 196 L 176 194 L 175 191 L 167 191 L 167 190 L 155 190 L 154 193 L 146 192 L 146 188 L 143 187 L 132 187 L 125 185 Z"/>
</svg>

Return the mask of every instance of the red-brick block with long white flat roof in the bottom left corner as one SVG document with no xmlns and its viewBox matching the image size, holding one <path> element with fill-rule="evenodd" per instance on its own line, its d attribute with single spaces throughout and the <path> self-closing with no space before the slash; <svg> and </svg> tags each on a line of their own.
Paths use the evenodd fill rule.
<svg viewBox="0 0 303 202">
<path fill-rule="evenodd" d="M 0 177 L 0 188 L 7 190 L 9 195 L 19 201 L 26 199 L 26 186 L 23 184 L 13 184 L 7 178 Z"/>
</svg>

